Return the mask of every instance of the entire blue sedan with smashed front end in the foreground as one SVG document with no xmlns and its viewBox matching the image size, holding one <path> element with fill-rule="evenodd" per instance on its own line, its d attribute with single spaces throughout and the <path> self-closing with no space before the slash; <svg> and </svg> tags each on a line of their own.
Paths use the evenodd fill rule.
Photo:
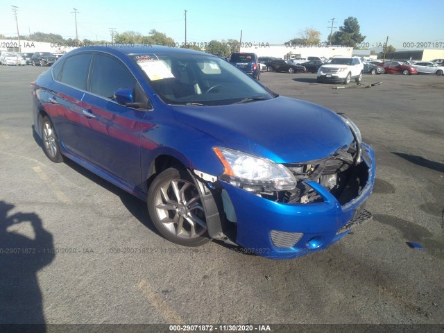
<svg viewBox="0 0 444 333">
<path fill-rule="evenodd" d="M 216 56 L 88 46 L 32 86 L 49 160 L 74 160 L 146 200 L 153 225 L 177 244 L 219 239 L 292 258 L 371 217 L 375 155 L 355 124 Z"/>
</svg>

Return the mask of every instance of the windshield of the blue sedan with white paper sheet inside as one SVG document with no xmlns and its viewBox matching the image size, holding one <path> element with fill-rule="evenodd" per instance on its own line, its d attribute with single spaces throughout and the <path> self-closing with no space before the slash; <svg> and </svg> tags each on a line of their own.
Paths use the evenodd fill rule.
<svg viewBox="0 0 444 333">
<path fill-rule="evenodd" d="M 156 94 L 167 104 L 228 105 L 278 96 L 243 71 L 214 56 L 133 54 Z"/>
</svg>

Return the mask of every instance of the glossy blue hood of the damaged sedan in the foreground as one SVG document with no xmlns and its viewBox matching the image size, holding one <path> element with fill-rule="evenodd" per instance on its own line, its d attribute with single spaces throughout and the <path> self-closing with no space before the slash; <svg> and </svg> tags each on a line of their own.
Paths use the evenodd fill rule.
<svg viewBox="0 0 444 333">
<path fill-rule="evenodd" d="M 318 160 L 353 140 L 339 115 L 282 96 L 237 105 L 173 106 L 173 112 L 176 120 L 212 135 L 227 148 L 277 163 Z"/>
</svg>

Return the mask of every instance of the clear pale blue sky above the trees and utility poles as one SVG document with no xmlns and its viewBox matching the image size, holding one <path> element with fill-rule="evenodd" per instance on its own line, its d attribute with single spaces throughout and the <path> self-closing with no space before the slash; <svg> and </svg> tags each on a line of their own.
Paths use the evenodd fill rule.
<svg viewBox="0 0 444 333">
<path fill-rule="evenodd" d="M 239 40 L 280 44 L 298 37 L 305 28 L 321 31 L 321 40 L 330 33 L 329 21 L 339 28 L 345 18 L 357 17 L 361 33 L 370 47 L 384 43 L 404 49 L 406 42 L 441 42 L 444 49 L 444 1 L 116 1 L 116 0 L 11 0 L 0 5 L 0 33 L 15 35 L 11 5 L 18 6 L 19 31 L 36 31 L 75 37 L 76 8 L 79 39 L 110 40 L 109 28 L 117 32 L 137 31 L 148 35 L 156 29 L 185 40 L 184 10 L 187 10 L 187 41 Z M 270 6 L 271 5 L 271 6 Z"/>
</svg>

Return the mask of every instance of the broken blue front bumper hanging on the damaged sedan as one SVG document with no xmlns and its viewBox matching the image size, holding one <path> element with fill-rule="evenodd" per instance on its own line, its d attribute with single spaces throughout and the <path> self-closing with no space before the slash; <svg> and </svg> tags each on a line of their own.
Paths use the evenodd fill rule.
<svg viewBox="0 0 444 333">
<path fill-rule="evenodd" d="M 321 200 L 310 203 L 277 202 L 221 182 L 234 207 L 236 243 L 249 253 L 289 259 L 323 250 L 355 225 L 368 221 L 371 214 L 364 205 L 375 182 L 375 155 L 370 146 L 362 144 L 361 147 L 361 163 L 355 166 L 353 176 L 360 179 L 361 185 L 356 195 L 342 204 L 341 198 L 311 180 L 303 182 L 314 189 Z"/>
</svg>

